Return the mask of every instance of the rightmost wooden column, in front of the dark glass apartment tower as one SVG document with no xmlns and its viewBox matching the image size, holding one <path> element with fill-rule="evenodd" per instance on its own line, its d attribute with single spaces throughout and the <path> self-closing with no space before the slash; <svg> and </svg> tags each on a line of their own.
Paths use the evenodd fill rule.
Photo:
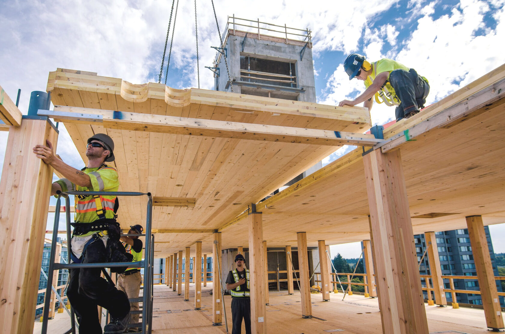
<svg viewBox="0 0 505 334">
<path fill-rule="evenodd" d="M 493 331 L 498 331 L 503 329 L 503 317 L 501 315 L 482 216 L 468 216 L 466 219 L 475 268 L 477 270 L 482 306 L 484 307 L 484 314 L 486 316 L 486 324 Z"/>
</svg>

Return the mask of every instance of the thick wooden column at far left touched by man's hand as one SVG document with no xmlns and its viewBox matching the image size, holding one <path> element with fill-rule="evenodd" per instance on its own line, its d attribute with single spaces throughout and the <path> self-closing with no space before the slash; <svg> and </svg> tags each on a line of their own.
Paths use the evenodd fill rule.
<svg viewBox="0 0 505 334">
<path fill-rule="evenodd" d="M 56 150 L 58 131 L 52 124 L 25 118 L 10 127 L 7 139 L 0 181 L 0 323 L 5 333 L 33 332 L 53 180 L 53 168 L 33 154 L 33 147 L 45 145 L 46 139 Z"/>
</svg>

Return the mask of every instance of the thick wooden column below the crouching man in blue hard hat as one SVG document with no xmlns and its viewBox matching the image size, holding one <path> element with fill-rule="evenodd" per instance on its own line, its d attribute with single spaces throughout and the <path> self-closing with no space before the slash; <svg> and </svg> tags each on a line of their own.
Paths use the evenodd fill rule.
<svg viewBox="0 0 505 334">
<path fill-rule="evenodd" d="M 382 330 L 428 334 L 409 201 L 399 150 L 363 157 Z"/>
</svg>

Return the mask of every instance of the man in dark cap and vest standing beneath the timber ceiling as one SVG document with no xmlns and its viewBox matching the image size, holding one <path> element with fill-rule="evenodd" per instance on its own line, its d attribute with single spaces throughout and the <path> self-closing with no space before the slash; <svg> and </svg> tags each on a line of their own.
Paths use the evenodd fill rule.
<svg viewBox="0 0 505 334">
<path fill-rule="evenodd" d="M 242 318 L 245 323 L 245 334 L 251 332 L 251 302 L 249 290 L 249 270 L 245 269 L 242 254 L 235 256 L 237 268 L 228 272 L 226 290 L 231 292 L 232 334 L 241 334 Z"/>
</svg>

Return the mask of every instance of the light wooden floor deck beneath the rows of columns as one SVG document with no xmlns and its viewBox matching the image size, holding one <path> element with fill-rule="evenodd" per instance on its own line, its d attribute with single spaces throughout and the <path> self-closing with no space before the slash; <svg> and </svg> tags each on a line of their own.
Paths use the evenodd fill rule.
<svg viewBox="0 0 505 334">
<path fill-rule="evenodd" d="M 153 334 L 219 334 L 226 333 L 226 326 L 212 325 L 212 284 L 202 289 L 202 309 L 194 310 L 194 285 L 190 284 L 190 301 L 184 302 L 184 296 L 178 296 L 165 285 L 155 286 L 153 311 Z M 362 295 L 346 296 L 331 294 L 329 302 L 323 302 L 320 294 L 313 294 L 312 307 L 316 318 L 302 319 L 300 295 L 286 291 L 271 291 L 270 305 L 267 306 L 268 332 L 270 334 L 316 334 L 327 332 L 344 332 L 346 334 L 382 334 L 380 312 L 377 299 L 365 298 Z M 228 330 L 231 333 L 231 297 L 225 296 Z M 431 334 L 480 334 L 486 333 L 484 311 L 479 309 L 437 306 L 426 307 L 426 315 Z M 242 325 L 243 327 L 243 325 Z M 70 328 L 67 313 L 57 313 L 55 319 L 49 320 L 48 332 L 63 333 Z M 35 322 L 34 333 L 40 333 L 41 323 Z M 338 330 L 339 329 L 339 330 Z M 242 333 L 245 329 L 242 328 Z"/>
</svg>

